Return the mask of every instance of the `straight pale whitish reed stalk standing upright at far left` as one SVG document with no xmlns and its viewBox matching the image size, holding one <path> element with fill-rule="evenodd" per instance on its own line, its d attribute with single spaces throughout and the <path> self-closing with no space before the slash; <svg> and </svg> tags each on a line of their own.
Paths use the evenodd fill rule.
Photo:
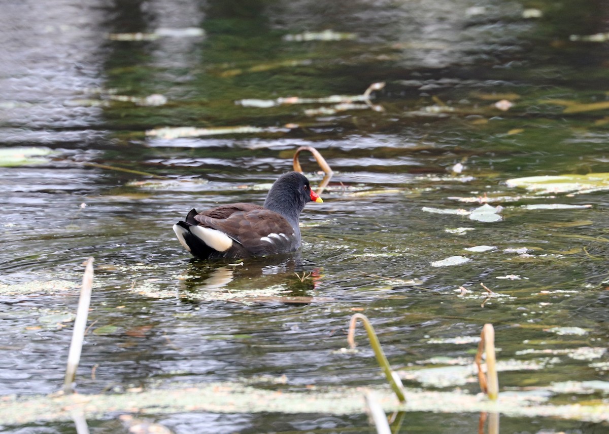
<svg viewBox="0 0 609 434">
<path fill-rule="evenodd" d="M 93 258 L 86 261 L 85 274 L 82 278 L 82 288 L 80 289 L 80 297 L 78 301 L 78 309 L 76 311 L 76 320 L 74 321 L 74 330 L 72 331 L 72 342 L 68 353 L 68 367 L 66 375 L 63 379 L 63 393 L 70 394 L 74 390 L 72 382 L 76 376 L 76 370 L 80 362 L 80 353 L 82 352 L 82 343 L 85 339 L 86 319 L 89 315 L 89 305 L 91 303 L 91 288 L 93 287 Z"/>
</svg>

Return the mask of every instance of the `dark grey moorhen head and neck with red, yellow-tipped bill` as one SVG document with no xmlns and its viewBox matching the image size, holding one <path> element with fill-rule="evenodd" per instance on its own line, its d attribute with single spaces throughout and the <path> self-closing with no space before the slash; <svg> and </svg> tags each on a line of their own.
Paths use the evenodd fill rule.
<svg viewBox="0 0 609 434">
<path fill-rule="evenodd" d="M 288 172 L 281 175 L 270 188 L 264 207 L 283 215 L 292 227 L 298 230 L 298 216 L 305 209 L 307 202 L 323 201 L 311 190 L 305 175 Z"/>
</svg>

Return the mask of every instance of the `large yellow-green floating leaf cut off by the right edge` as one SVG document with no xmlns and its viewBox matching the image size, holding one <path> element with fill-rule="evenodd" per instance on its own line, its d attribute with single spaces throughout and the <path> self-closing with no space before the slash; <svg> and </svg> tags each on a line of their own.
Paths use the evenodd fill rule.
<svg viewBox="0 0 609 434">
<path fill-rule="evenodd" d="M 540 195 L 555 193 L 592 193 L 609 190 L 609 173 L 586 175 L 544 175 L 513 178 L 505 181 L 508 187 L 537 191 Z"/>
</svg>

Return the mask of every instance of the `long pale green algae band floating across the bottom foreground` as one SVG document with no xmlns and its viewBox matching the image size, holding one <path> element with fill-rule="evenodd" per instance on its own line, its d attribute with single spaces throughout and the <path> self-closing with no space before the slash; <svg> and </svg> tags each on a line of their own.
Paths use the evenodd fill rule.
<svg viewBox="0 0 609 434">
<path fill-rule="evenodd" d="M 596 387 L 596 385 L 594 385 Z M 605 387 L 604 385 L 602 387 Z M 590 388 L 590 386 L 588 386 Z M 564 387 L 557 387 L 565 390 Z M 103 418 L 121 409 L 139 415 L 181 412 L 213 413 L 365 413 L 362 397 L 373 391 L 385 412 L 497 412 L 509 416 L 544 416 L 580 421 L 609 420 L 607 404 L 551 405 L 544 394 L 504 393 L 498 402 L 464 391 L 406 389 L 400 404 L 389 388 L 324 388 L 315 391 L 267 390 L 237 383 L 175 385 L 174 387 L 123 394 L 75 394 L 71 396 L 2 397 L 0 420 L 5 425 L 43 421 L 68 421 L 74 410 L 88 419 Z"/>
</svg>

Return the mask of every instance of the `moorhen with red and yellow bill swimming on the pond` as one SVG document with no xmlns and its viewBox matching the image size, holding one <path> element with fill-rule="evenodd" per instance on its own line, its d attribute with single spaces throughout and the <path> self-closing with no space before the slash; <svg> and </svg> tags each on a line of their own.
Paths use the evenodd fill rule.
<svg viewBox="0 0 609 434">
<path fill-rule="evenodd" d="M 173 229 L 195 258 L 250 258 L 300 248 L 300 213 L 323 202 L 301 173 L 288 172 L 272 185 L 264 205 L 239 202 L 203 212 L 192 209 Z"/>
</svg>

